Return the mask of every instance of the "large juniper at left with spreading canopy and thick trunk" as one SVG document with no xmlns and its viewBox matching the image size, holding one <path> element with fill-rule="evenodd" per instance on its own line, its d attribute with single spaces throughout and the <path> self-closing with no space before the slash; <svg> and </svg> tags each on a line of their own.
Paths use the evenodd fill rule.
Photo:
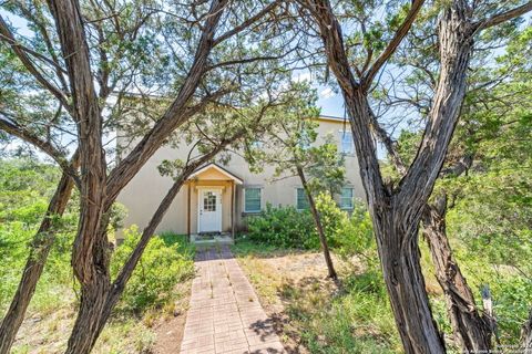
<svg viewBox="0 0 532 354">
<path fill-rule="evenodd" d="M 10 19 L 22 18 L 23 32 L 31 33 L 17 33 L 2 15 L 2 53 L 20 64 L 18 90 L 11 103 L 2 102 L 2 129 L 52 156 L 80 189 L 72 267 L 81 302 L 66 352 L 88 353 L 115 293 L 106 230 L 122 188 L 172 132 L 206 106 L 238 106 L 247 93 L 280 85 L 268 74 L 286 72 L 304 45 L 278 21 L 286 15 L 280 1 L 12 1 L 2 9 Z M 131 93 L 149 102 L 145 107 L 152 107 L 153 95 L 166 98 L 142 112 L 152 121 L 114 164 L 111 132 L 139 113 L 124 100 Z M 35 117 L 37 96 L 57 114 Z M 37 282 L 40 272 L 32 274 L 21 287 Z M 2 324 L 2 352 L 14 340 L 31 288 Z"/>
</svg>

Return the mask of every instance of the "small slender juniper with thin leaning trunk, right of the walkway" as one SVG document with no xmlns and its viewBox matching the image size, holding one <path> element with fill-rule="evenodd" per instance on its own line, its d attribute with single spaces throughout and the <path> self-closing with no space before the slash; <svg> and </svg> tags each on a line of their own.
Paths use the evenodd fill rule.
<svg viewBox="0 0 532 354">
<path fill-rule="evenodd" d="M 259 170 L 264 165 L 274 166 L 274 179 L 299 178 L 316 223 L 328 277 L 337 280 L 315 197 L 320 191 L 339 191 L 345 180 L 344 158 L 330 136 L 318 140 L 316 118 L 319 112 L 313 105 L 316 101 L 314 92 L 306 84 L 293 85 L 299 87 L 300 96 L 294 97 L 289 110 L 277 110 L 279 123 L 259 135 L 258 140 L 248 144 L 246 157 L 254 170 Z M 255 144 L 257 142 L 258 145 Z"/>
</svg>

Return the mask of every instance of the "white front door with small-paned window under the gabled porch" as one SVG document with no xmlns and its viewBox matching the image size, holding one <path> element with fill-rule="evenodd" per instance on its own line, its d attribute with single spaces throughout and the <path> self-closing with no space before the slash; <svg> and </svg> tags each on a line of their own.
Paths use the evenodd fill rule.
<svg viewBox="0 0 532 354">
<path fill-rule="evenodd" d="M 222 231 L 222 192 L 219 189 L 200 189 L 198 232 Z"/>
</svg>

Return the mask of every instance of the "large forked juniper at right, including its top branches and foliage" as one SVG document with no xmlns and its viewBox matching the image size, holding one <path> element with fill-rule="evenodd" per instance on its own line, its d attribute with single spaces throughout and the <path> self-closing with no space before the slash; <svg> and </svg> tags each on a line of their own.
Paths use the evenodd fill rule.
<svg viewBox="0 0 532 354">
<path fill-rule="evenodd" d="M 355 2 L 334 10 L 329 1 L 298 1 L 311 21 L 336 76 L 349 116 L 360 175 L 374 222 L 391 308 L 407 353 L 443 353 L 419 264 L 418 230 L 442 167 L 466 94 L 467 70 L 479 34 L 532 9 L 454 0 L 437 11 L 439 75 L 430 100 L 423 137 L 397 185 L 387 185 L 376 154 L 375 119 L 369 100 L 382 66 L 408 34 L 423 1 L 390 3 L 388 21 L 378 21 L 386 3 Z M 397 8 L 395 8 L 397 6 Z M 342 27 L 344 22 L 350 21 Z M 380 11 L 380 12 L 379 12 Z M 346 32 L 344 32 L 344 30 Z M 375 40 L 375 41 L 374 41 Z"/>
</svg>

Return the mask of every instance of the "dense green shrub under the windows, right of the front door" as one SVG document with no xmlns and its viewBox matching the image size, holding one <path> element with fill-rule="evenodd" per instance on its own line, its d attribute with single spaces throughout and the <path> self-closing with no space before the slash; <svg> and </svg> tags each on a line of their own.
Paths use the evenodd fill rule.
<svg viewBox="0 0 532 354">
<path fill-rule="evenodd" d="M 294 207 L 266 206 L 259 216 L 248 218 L 249 239 L 283 248 L 317 249 L 319 239 L 313 216 Z"/>
</svg>

